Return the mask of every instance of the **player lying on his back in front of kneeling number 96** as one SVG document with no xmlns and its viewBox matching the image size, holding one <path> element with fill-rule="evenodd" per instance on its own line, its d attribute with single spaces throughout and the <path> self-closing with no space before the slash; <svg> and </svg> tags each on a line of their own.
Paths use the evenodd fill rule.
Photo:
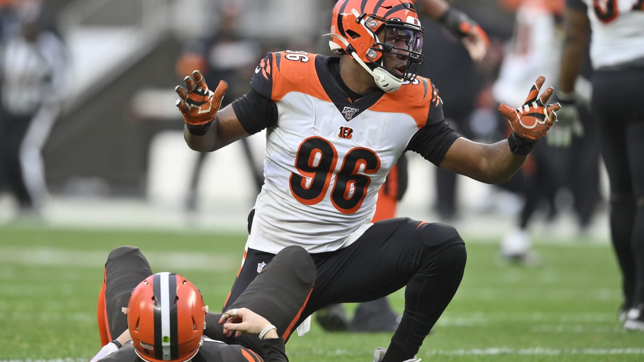
<svg viewBox="0 0 644 362">
<path fill-rule="evenodd" d="M 230 309 L 214 314 L 186 278 L 152 274 L 137 247 L 117 247 L 109 253 L 99 293 L 103 347 L 91 362 L 288 361 L 284 341 L 306 305 L 315 277 L 307 251 L 287 247 Z"/>
</svg>

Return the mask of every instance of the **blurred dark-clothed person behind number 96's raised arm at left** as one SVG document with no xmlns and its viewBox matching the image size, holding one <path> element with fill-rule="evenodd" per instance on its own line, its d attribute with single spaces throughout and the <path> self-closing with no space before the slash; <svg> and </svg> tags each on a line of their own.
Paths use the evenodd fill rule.
<svg viewBox="0 0 644 362">
<path fill-rule="evenodd" d="M 263 54 L 258 41 L 242 35 L 238 30 L 238 20 L 242 10 L 243 2 L 222 1 L 215 9 L 220 19 L 214 33 L 207 39 L 196 39 L 189 44 L 176 63 L 176 73 L 180 77 L 191 74 L 193 70 L 200 70 L 205 80 L 211 84 L 216 84 L 218 81 L 228 82 L 229 88 L 223 96 L 222 108 L 249 90 L 253 66 L 258 63 Z M 249 141 L 244 138 L 241 144 L 251 178 L 256 186 L 254 190 L 256 195 L 263 184 L 262 171 L 256 166 L 258 164 Z M 207 153 L 198 153 L 188 187 L 187 211 L 196 210 L 198 182 L 207 155 Z"/>
</svg>

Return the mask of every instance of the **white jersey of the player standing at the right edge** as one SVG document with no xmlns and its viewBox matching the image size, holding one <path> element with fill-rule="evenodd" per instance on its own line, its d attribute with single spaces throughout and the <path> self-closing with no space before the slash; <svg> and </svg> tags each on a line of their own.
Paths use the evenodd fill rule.
<svg viewBox="0 0 644 362">
<path fill-rule="evenodd" d="M 583 1 L 592 28 L 592 68 L 644 59 L 644 1 Z"/>
</svg>

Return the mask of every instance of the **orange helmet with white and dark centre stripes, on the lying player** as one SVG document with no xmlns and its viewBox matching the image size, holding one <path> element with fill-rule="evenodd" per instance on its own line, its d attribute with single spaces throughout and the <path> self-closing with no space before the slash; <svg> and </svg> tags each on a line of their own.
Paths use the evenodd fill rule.
<svg viewBox="0 0 644 362">
<path fill-rule="evenodd" d="M 193 283 L 160 272 L 141 281 L 128 303 L 128 329 L 137 355 L 148 362 L 184 362 L 198 352 L 208 308 Z"/>
</svg>

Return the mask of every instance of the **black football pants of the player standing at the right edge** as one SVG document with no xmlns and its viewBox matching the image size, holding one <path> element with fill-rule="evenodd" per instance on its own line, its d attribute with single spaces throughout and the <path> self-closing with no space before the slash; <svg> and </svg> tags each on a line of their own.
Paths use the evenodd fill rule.
<svg viewBox="0 0 644 362">
<path fill-rule="evenodd" d="M 644 67 L 598 70 L 592 111 L 610 183 L 611 237 L 626 307 L 644 304 Z"/>
</svg>

